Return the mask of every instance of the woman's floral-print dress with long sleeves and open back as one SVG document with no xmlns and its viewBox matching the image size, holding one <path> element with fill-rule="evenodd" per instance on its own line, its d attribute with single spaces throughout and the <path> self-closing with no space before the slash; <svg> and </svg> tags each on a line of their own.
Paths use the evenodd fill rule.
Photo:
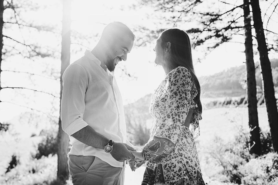
<svg viewBox="0 0 278 185">
<path fill-rule="evenodd" d="M 194 139 L 200 135 L 194 98 L 197 90 L 188 69 L 172 69 L 152 96 L 150 114 L 156 121 L 142 149 L 147 168 L 142 185 L 204 185 Z M 184 126 L 193 109 L 191 130 Z"/>
</svg>

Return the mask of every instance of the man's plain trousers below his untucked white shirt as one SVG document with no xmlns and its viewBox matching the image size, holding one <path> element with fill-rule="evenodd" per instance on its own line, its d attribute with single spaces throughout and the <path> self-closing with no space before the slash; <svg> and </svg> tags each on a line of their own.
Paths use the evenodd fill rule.
<svg viewBox="0 0 278 185">
<path fill-rule="evenodd" d="M 69 155 L 73 185 L 123 185 L 125 168 L 116 168 L 95 156 Z"/>
</svg>

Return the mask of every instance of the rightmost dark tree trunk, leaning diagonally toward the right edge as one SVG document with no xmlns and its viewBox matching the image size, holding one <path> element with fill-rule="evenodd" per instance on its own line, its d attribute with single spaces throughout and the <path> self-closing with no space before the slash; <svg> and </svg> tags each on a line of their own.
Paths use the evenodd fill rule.
<svg viewBox="0 0 278 185">
<path fill-rule="evenodd" d="M 266 110 L 268 123 L 270 126 L 273 149 L 278 152 L 278 111 L 276 105 L 275 91 L 271 73 L 271 65 L 268 58 L 268 49 L 264 35 L 263 22 L 261 20 L 261 9 L 258 0 L 251 0 L 254 28 L 260 53 L 261 73 L 263 77 L 264 98 L 266 100 Z"/>
</svg>

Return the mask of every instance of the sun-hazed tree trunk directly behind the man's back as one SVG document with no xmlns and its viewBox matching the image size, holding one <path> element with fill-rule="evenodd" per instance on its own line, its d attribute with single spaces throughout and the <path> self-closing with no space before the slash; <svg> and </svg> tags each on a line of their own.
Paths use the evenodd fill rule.
<svg viewBox="0 0 278 185">
<path fill-rule="evenodd" d="M 70 59 L 70 12 L 71 0 L 63 0 L 63 21 L 62 21 L 62 51 L 61 51 L 61 77 L 60 77 L 60 113 L 61 113 L 61 99 L 63 91 L 63 73 L 67 66 L 69 66 Z M 69 136 L 62 129 L 61 114 L 59 117 L 58 130 L 58 171 L 57 178 L 60 180 L 67 180 L 69 177 L 69 168 L 67 153 L 69 151 Z"/>
</svg>

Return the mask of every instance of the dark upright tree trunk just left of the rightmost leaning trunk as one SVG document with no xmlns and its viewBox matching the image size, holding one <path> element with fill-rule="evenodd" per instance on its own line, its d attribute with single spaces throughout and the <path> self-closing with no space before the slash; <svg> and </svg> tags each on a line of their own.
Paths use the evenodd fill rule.
<svg viewBox="0 0 278 185">
<path fill-rule="evenodd" d="M 261 138 L 257 110 L 257 87 L 255 77 L 255 64 L 253 57 L 253 43 L 251 32 L 251 16 L 249 0 L 243 0 L 244 31 L 245 31 L 245 56 L 247 71 L 247 99 L 248 117 L 250 128 L 250 153 L 261 155 Z"/>
</svg>

